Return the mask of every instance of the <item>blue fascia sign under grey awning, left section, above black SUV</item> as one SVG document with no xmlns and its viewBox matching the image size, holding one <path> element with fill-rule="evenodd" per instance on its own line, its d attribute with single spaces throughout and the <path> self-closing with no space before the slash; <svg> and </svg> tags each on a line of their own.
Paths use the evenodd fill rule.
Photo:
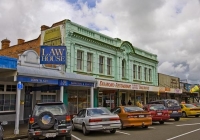
<svg viewBox="0 0 200 140">
<path fill-rule="evenodd" d="M 42 84 L 58 84 L 57 79 L 48 79 L 40 77 L 17 76 L 17 81 L 28 83 L 42 83 Z"/>
</svg>

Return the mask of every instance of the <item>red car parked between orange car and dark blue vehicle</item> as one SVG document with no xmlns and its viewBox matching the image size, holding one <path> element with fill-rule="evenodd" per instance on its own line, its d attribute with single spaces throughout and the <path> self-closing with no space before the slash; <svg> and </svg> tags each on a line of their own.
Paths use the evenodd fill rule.
<svg viewBox="0 0 200 140">
<path fill-rule="evenodd" d="M 170 119 L 170 114 L 163 104 L 147 104 L 143 108 L 145 111 L 151 113 L 152 121 L 164 124 Z"/>
</svg>

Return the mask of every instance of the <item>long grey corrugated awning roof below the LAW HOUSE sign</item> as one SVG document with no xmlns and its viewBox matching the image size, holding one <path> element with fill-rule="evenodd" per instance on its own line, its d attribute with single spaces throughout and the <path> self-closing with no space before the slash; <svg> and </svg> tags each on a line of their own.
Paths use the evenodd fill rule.
<svg viewBox="0 0 200 140">
<path fill-rule="evenodd" d="M 92 76 L 81 75 L 76 73 L 61 73 L 61 71 L 37 67 L 17 66 L 18 75 L 43 77 L 51 79 L 63 79 L 71 81 L 92 82 L 95 83 L 96 79 Z"/>
</svg>

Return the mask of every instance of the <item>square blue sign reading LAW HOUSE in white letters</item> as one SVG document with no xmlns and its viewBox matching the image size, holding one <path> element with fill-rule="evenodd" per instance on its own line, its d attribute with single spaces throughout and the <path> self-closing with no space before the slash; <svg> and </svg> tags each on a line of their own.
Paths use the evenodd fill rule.
<svg viewBox="0 0 200 140">
<path fill-rule="evenodd" d="M 40 46 L 40 64 L 66 64 L 66 46 Z"/>
</svg>

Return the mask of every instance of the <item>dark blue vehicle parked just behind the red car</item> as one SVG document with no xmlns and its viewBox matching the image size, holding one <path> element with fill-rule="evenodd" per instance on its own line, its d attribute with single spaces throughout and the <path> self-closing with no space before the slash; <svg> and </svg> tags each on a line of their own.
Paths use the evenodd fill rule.
<svg viewBox="0 0 200 140">
<path fill-rule="evenodd" d="M 181 106 L 175 99 L 150 101 L 148 104 L 163 104 L 168 109 L 170 118 L 174 119 L 175 121 L 179 121 L 180 117 L 182 117 Z"/>
</svg>

